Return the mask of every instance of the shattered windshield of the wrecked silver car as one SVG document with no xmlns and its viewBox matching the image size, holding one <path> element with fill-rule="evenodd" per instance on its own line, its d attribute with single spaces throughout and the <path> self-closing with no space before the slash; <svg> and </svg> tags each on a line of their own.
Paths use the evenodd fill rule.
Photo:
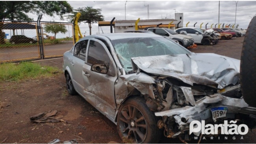
<svg viewBox="0 0 256 144">
<path fill-rule="evenodd" d="M 184 47 L 165 37 L 124 38 L 112 40 L 111 43 L 126 72 L 131 70 L 131 58 L 134 57 L 190 53 Z"/>
</svg>

